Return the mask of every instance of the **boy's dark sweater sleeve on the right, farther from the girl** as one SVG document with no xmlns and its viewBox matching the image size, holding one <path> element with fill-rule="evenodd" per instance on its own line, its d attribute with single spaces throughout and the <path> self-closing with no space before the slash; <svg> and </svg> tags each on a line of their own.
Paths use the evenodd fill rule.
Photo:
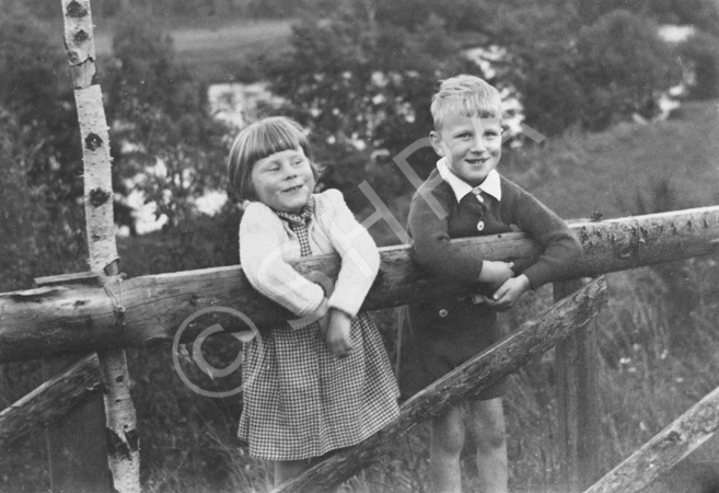
<svg viewBox="0 0 719 493">
<path fill-rule="evenodd" d="M 509 220 L 544 246 L 538 260 L 523 272 L 532 288 L 570 272 L 582 255 L 582 246 L 567 223 L 514 183 L 503 180 L 502 185 L 510 192 L 507 194 Z"/>
</svg>

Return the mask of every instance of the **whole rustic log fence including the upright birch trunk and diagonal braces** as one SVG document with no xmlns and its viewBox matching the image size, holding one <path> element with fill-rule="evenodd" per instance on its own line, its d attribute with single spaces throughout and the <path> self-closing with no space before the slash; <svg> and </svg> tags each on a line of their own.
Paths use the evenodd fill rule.
<svg viewBox="0 0 719 493">
<path fill-rule="evenodd" d="M 95 82 L 90 3 L 61 3 L 83 141 L 92 272 L 43 278 L 36 289 L 0 295 L 0 364 L 48 358 L 48 381 L 0 413 L 0 444 L 49 426 L 54 491 L 129 493 L 140 489 L 139 448 L 124 348 L 172 341 L 182 322 L 206 307 L 241 310 L 260 331 L 283 323 L 289 314 L 252 289 L 240 266 L 132 279 L 119 275 L 112 200 L 107 199 L 112 196 L 108 138 L 102 94 Z M 719 207 L 571 227 L 580 238 L 584 256 L 573 272 L 554 279 L 555 297 L 561 299 L 555 307 L 405 403 L 395 423 L 280 491 L 318 491 L 338 484 L 380 460 L 398 436 L 418 423 L 517 370 L 529 357 L 555 344 L 563 483 L 572 493 L 592 485 L 599 479 L 599 416 L 593 391 L 598 380 L 596 341 L 590 321 L 605 301 L 606 288 L 601 278 L 585 286 L 577 279 L 715 253 L 719 246 Z M 455 243 L 489 260 L 532 259 L 538 253 L 537 245 L 521 233 Z M 363 306 L 367 310 L 467 293 L 464 286 L 417 270 L 406 245 L 382 249 L 381 254 L 380 275 Z M 320 273 L 333 278 L 338 261 L 334 256 L 310 257 L 298 262 L 297 268 L 306 275 L 316 277 Z M 193 341 L 200 329 L 190 325 L 183 341 Z M 60 357 L 63 360 L 57 359 Z M 68 365 L 68 357 L 74 363 Z M 58 375 L 51 375 L 58 370 Z M 716 432 L 717 393 L 707 395 L 590 491 L 638 491 L 673 467 Z M 59 419 L 65 420 L 63 426 L 56 425 Z M 94 423 L 94 428 L 78 434 L 78 423 L 85 428 Z M 103 454 L 98 455 L 97 449 Z"/>
</svg>

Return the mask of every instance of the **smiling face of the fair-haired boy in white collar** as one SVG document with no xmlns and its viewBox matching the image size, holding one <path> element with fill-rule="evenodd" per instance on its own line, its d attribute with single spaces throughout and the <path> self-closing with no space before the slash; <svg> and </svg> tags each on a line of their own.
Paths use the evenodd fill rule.
<svg viewBox="0 0 719 493">
<path fill-rule="evenodd" d="M 444 118 L 440 130 L 429 136 L 434 151 L 447 158 L 450 171 L 472 186 L 484 182 L 502 156 L 499 118 L 453 112 Z"/>
</svg>

